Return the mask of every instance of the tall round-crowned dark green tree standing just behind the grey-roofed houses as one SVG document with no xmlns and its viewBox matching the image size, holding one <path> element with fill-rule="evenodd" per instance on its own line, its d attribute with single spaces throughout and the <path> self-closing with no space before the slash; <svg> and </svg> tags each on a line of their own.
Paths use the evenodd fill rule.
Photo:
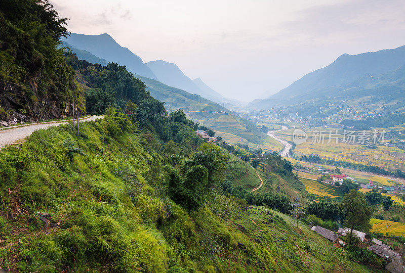
<svg viewBox="0 0 405 273">
<path fill-rule="evenodd" d="M 343 196 L 339 209 L 345 216 L 345 225 L 350 226 L 349 241 L 351 240 L 354 226 L 363 231 L 370 229 L 370 218 L 373 214 L 373 209 L 367 205 L 366 198 L 361 193 L 356 190 L 350 190 L 348 194 Z"/>
</svg>

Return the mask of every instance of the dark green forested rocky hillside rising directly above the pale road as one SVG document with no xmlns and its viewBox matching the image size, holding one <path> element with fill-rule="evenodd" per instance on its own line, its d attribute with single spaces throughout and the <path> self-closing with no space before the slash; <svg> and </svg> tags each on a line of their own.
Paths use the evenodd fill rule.
<svg viewBox="0 0 405 273">
<path fill-rule="evenodd" d="M 66 19 L 48 2 L 2 1 L 0 6 L 0 121 L 2 125 L 84 112 L 84 96 L 66 65 L 59 39 Z"/>
</svg>

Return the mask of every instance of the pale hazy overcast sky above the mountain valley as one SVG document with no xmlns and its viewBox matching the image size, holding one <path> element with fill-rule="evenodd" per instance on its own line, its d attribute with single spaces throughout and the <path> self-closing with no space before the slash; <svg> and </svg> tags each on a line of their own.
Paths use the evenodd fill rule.
<svg viewBox="0 0 405 273">
<path fill-rule="evenodd" d="M 74 33 L 108 33 L 250 102 L 340 55 L 405 44 L 403 0 L 51 0 Z"/>
</svg>

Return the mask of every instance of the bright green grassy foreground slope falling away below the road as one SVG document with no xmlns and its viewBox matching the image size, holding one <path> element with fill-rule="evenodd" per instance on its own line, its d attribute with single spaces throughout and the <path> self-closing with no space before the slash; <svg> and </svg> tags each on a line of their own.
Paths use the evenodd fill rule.
<svg viewBox="0 0 405 273">
<path fill-rule="evenodd" d="M 139 133 L 113 138 L 106 120 L 81 126 L 80 137 L 68 126 L 52 127 L 0 153 L 1 209 L 16 214 L 6 228 L 13 233 L 0 243 L 15 245 L 0 251 L 0 266 L 41 272 L 366 270 L 305 226 L 298 234 L 289 223 L 263 211 L 241 212 L 222 196 L 187 213 L 161 194 L 160 156 Z M 84 152 L 71 162 L 66 139 Z M 36 211 L 51 213 L 60 228 L 47 228 Z"/>
</svg>

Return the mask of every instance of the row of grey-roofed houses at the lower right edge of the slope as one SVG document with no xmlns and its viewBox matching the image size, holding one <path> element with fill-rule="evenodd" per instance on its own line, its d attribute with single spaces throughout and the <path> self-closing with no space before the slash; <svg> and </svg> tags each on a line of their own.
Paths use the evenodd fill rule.
<svg viewBox="0 0 405 273">
<path fill-rule="evenodd" d="M 322 237 L 328 239 L 332 243 L 338 243 L 341 246 L 344 246 L 346 243 L 343 242 L 342 240 L 339 239 L 339 236 L 346 236 L 350 234 L 350 229 L 349 228 L 339 228 L 339 231 L 337 233 L 330 231 L 328 229 L 322 228 L 319 225 L 312 226 L 311 228 L 312 231 L 320 234 Z M 361 241 L 364 242 L 366 239 L 366 234 L 363 232 L 359 232 L 356 230 L 353 230 L 353 236 L 357 236 L 357 238 Z M 372 251 L 374 254 L 386 259 L 387 261 L 390 261 L 390 263 L 385 267 L 388 271 L 392 273 L 399 273 L 399 272 L 405 272 L 405 261 L 402 259 L 402 254 L 399 252 L 396 252 L 391 249 L 389 245 L 384 244 L 382 241 L 377 240 L 374 238 L 371 243 L 374 243 L 371 247 L 368 249 Z"/>
</svg>

